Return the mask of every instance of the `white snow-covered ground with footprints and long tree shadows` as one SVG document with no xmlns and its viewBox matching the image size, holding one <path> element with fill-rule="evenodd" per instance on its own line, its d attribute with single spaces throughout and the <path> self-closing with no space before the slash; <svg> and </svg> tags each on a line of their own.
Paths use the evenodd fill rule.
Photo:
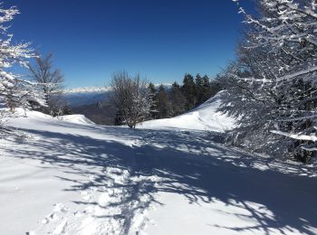
<svg viewBox="0 0 317 235">
<path fill-rule="evenodd" d="M 316 234 L 316 168 L 212 142 L 234 124 L 209 101 L 136 130 L 9 120 L 29 136 L 0 140 L 0 234 Z"/>
</svg>

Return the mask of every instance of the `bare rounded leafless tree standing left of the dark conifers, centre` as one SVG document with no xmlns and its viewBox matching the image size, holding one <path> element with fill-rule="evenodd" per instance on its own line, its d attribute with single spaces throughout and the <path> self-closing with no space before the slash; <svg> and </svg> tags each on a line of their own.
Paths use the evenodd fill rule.
<svg viewBox="0 0 317 235">
<path fill-rule="evenodd" d="M 149 97 L 148 83 L 139 75 L 131 77 L 126 71 L 112 74 L 110 82 L 111 99 L 117 107 L 117 117 L 130 128 L 149 118 L 152 101 Z M 119 117 L 118 117 L 119 118 Z"/>
</svg>

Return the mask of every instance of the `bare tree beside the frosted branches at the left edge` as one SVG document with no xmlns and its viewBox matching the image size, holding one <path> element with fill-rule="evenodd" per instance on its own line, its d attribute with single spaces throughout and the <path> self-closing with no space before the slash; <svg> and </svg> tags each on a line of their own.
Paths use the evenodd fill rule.
<svg viewBox="0 0 317 235">
<path fill-rule="evenodd" d="M 53 69 L 53 54 L 35 58 L 34 66 L 29 65 L 32 79 L 42 85 L 46 107 L 43 111 L 52 116 L 62 112 L 65 101 L 62 99 L 62 83 L 64 82 L 61 71 Z"/>
</svg>

